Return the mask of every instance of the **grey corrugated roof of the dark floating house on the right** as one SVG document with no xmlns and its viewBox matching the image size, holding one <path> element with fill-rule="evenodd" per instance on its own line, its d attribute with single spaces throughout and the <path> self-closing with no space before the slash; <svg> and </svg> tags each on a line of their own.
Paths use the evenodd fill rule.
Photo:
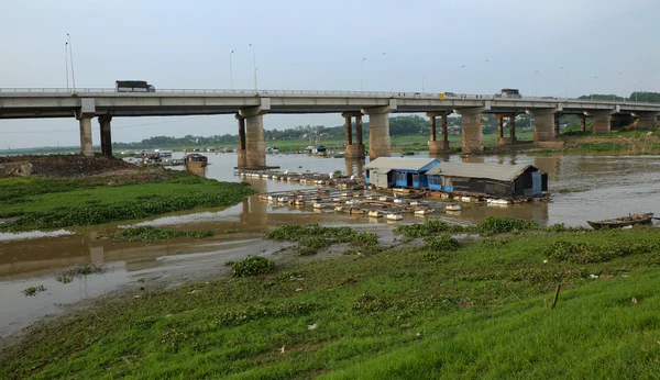
<svg viewBox="0 0 660 380">
<path fill-rule="evenodd" d="M 492 178 L 501 181 L 512 181 L 530 166 L 534 167 L 534 165 L 440 163 L 440 165 L 427 171 L 427 175 L 465 178 Z"/>
</svg>

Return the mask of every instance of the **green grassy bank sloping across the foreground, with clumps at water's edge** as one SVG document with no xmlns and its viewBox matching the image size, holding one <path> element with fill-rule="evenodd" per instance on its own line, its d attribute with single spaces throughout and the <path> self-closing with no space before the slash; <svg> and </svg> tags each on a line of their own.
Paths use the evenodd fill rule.
<svg viewBox="0 0 660 380">
<path fill-rule="evenodd" d="M 258 261 L 266 275 L 128 294 L 38 326 L 3 353 L 0 377 L 658 378 L 656 228 L 473 242 L 438 231 L 399 230 L 416 246 Z"/>
</svg>

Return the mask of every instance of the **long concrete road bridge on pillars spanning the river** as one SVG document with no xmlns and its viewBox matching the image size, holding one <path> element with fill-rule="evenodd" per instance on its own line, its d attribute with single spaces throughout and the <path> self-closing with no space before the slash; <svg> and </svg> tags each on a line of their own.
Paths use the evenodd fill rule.
<svg viewBox="0 0 660 380">
<path fill-rule="evenodd" d="M 268 113 L 339 113 L 346 128 L 346 158 L 364 158 L 362 116 L 370 118 L 370 157 L 389 156 L 389 114 L 426 113 L 430 118 L 429 150 L 449 148 L 447 116 L 462 115 L 463 153 L 483 153 L 482 114 L 495 114 L 499 144 L 516 142 L 515 116 L 534 116 L 535 142 L 552 145 L 559 134 L 559 116 L 593 118 L 593 133 L 609 133 L 613 124 L 637 119 L 638 127 L 658 122 L 660 103 L 592 101 L 562 98 L 501 98 L 496 96 L 444 96 L 419 92 L 358 91 L 250 91 L 250 90 L 158 90 L 116 92 L 114 89 L 0 89 L 0 119 L 76 118 L 80 126 L 80 153 L 91 156 L 91 120 L 100 123 L 101 150 L 112 155 L 111 120 L 127 116 L 174 116 L 235 114 L 239 126 L 241 168 L 266 166 L 264 115 Z M 440 118 L 441 133 L 438 133 Z M 355 138 L 352 120 L 355 119 Z M 510 135 L 503 135 L 504 119 Z M 1 133 L 1 131 L 0 131 Z M 440 136 L 439 136 L 440 135 Z M 440 138 L 438 138 L 440 137 Z"/>
</svg>

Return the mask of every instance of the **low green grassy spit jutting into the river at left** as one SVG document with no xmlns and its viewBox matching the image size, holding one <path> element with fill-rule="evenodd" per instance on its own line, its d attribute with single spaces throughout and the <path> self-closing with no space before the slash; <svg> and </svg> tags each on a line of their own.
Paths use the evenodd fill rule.
<svg viewBox="0 0 660 380">
<path fill-rule="evenodd" d="M 229 206 L 254 191 L 186 171 L 139 170 L 76 179 L 0 179 L 1 232 L 59 228 L 148 217 L 196 208 Z"/>
</svg>

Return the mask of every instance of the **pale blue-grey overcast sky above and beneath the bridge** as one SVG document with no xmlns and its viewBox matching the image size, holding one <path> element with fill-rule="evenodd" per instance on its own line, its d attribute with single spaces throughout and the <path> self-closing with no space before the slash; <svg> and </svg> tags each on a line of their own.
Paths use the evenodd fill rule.
<svg viewBox="0 0 660 380">
<path fill-rule="evenodd" d="M 2 0 L 0 87 L 65 88 L 118 79 L 161 89 L 395 91 L 575 97 L 660 91 L 657 0 Z M 461 66 L 463 66 L 461 68 Z M 461 68 L 461 69 L 460 69 Z M 562 69 L 563 68 L 563 69 Z M 538 74 L 535 74 L 538 71 Z M 596 78 L 597 77 L 597 78 Z M 568 78 L 568 80 L 566 80 Z M 266 115 L 266 128 L 340 125 L 337 115 Z M 94 143 L 99 143 L 94 122 Z M 116 142 L 237 133 L 232 115 L 116 118 Z M 0 120 L 0 149 L 78 145 L 72 120 Z"/>
</svg>

